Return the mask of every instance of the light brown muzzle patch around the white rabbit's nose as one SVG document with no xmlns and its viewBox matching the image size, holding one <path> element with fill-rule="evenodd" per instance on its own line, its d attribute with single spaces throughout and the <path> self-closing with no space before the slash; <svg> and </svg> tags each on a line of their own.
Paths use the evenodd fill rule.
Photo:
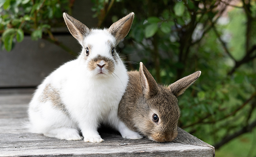
<svg viewBox="0 0 256 157">
<path fill-rule="evenodd" d="M 88 68 L 97 74 L 111 74 L 115 70 L 115 64 L 110 58 L 97 55 L 89 62 Z"/>
</svg>

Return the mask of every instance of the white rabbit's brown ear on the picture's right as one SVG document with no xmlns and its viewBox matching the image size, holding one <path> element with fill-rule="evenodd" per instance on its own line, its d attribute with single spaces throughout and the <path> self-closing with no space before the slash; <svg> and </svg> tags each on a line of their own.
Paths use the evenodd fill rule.
<svg viewBox="0 0 256 157">
<path fill-rule="evenodd" d="M 119 43 L 130 31 L 130 28 L 132 26 L 132 21 L 134 20 L 134 13 L 130 13 L 117 22 L 113 23 L 108 31 L 111 33 L 117 40 L 117 43 Z"/>
</svg>

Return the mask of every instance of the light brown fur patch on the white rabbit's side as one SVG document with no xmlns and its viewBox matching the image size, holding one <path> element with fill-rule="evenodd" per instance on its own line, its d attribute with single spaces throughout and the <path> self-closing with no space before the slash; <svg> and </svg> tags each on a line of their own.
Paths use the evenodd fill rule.
<svg viewBox="0 0 256 157">
<path fill-rule="evenodd" d="M 50 101 L 52 102 L 52 106 L 54 106 L 54 108 L 57 108 L 58 110 L 61 110 L 67 114 L 67 109 L 65 108 L 65 105 L 63 104 L 63 102 L 61 102 L 59 91 L 53 88 L 51 84 L 47 84 L 45 86 L 45 89 L 40 97 L 40 101 L 41 102 Z"/>
</svg>

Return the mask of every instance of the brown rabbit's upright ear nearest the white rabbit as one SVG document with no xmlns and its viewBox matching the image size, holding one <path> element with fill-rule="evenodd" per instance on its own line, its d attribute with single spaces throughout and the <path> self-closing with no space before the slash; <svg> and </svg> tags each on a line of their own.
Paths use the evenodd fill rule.
<svg viewBox="0 0 256 157">
<path fill-rule="evenodd" d="M 145 98 L 150 99 L 158 93 L 158 84 L 142 62 L 139 63 L 139 82 Z"/>
</svg>

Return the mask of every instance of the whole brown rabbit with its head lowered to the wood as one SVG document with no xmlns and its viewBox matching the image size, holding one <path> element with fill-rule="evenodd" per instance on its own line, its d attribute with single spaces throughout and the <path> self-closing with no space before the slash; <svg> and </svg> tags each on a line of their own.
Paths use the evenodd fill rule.
<svg viewBox="0 0 256 157">
<path fill-rule="evenodd" d="M 168 87 L 156 83 L 142 62 L 139 71 L 130 71 L 129 85 L 119 103 L 118 116 L 132 131 L 157 142 L 172 141 L 178 135 L 180 117 L 177 97 L 195 82 L 201 71 Z"/>
</svg>

